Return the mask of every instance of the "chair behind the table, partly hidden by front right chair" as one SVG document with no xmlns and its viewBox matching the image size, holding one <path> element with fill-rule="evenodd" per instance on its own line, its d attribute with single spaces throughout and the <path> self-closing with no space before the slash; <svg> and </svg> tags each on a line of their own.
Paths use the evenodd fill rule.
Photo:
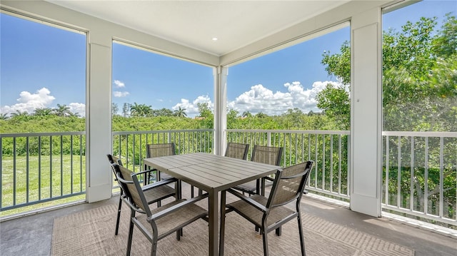
<svg viewBox="0 0 457 256">
<path fill-rule="evenodd" d="M 265 145 L 254 145 L 251 155 L 251 161 L 257 163 L 266 163 L 268 165 L 280 165 L 281 156 L 283 153 L 282 147 L 269 147 Z M 265 179 L 252 180 L 248 183 L 243 183 L 236 186 L 234 189 L 239 190 L 248 195 L 261 194 L 265 195 Z"/>
</svg>

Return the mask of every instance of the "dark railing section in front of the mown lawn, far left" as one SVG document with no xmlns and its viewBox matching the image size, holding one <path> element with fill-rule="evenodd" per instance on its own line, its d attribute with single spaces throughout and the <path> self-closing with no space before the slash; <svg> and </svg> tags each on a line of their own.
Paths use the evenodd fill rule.
<svg viewBox="0 0 457 256">
<path fill-rule="evenodd" d="M 86 133 L 1 133 L 0 210 L 86 193 Z"/>
</svg>

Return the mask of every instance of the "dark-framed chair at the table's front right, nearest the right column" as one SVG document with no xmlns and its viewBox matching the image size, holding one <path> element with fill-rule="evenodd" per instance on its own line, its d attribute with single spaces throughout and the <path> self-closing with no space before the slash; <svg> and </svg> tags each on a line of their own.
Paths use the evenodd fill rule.
<svg viewBox="0 0 457 256">
<path fill-rule="evenodd" d="M 226 192 L 223 191 L 221 195 L 220 255 L 224 254 L 226 213 L 231 211 L 235 211 L 261 230 L 263 238 L 263 255 L 265 256 L 268 255 L 268 232 L 276 230 L 276 235 L 281 235 L 281 225 L 296 218 L 298 220 L 301 255 L 306 255 L 303 241 L 303 227 L 301 225 L 300 200 L 312 165 L 313 161 L 309 160 L 306 163 L 298 163 L 283 168 L 283 170 L 278 170 L 268 198 L 258 194 L 247 197 L 236 190 L 229 189 L 226 190 L 226 192 L 235 195 L 240 198 L 240 200 L 225 205 Z M 293 201 L 296 201 L 295 210 L 286 207 L 286 204 Z"/>
</svg>

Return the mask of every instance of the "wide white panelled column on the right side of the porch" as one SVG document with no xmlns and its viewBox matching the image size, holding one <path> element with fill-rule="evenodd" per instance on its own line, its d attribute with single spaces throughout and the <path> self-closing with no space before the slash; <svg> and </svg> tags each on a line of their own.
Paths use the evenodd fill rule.
<svg viewBox="0 0 457 256">
<path fill-rule="evenodd" d="M 381 9 L 351 21 L 351 210 L 381 216 Z"/>
</svg>

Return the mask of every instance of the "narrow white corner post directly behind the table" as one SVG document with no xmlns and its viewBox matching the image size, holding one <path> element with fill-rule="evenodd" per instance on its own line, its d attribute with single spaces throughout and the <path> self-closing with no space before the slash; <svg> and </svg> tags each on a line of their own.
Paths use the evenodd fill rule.
<svg viewBox="0 0 457 256">
<path fill-rule="evenodd" d="M 226 148 L 227 128 L 227 75 L 229 68 L 218 66 L 214 68 L 216 81 L 214 83 L 214 153 L 223 155 Z"/>
</svg>

